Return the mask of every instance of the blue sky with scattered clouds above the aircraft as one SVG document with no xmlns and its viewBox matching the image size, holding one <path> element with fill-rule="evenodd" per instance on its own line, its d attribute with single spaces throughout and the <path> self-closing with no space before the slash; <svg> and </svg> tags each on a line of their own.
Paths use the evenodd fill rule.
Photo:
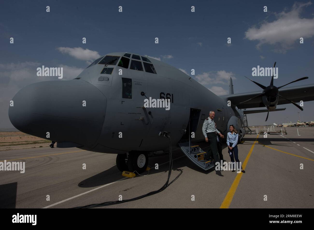
<svg viewBox="0 0 314 230">
<path fill-rule="evenodd" d="M 263 12 L 264 6 L 268 12 Z M 188 74 L 195 69 L 193 77 L 216 94 L 229 90 L 230 76 L 235 93 L 260 90 L 244 75 L 269 85 L 270 77 L 252 77 L 252 68 L 272 67 L 274 61 L 279 68 L 274 85 L 303 76 L 309 79 L 290 86 L 314 83 L 313 13 L 311 2 L 294 1 L 2 2 L 0 127 L 13 127 L 7 115 L 10 98 L 20 88 L 43 80 L 36 76 L 37 67 L 63 66 L 63 80 L 68 80 L 96 56 L 117 51 L 160 58 Z M 300 36 L 304 44 L 297 39 Z M 10 37 L 14 44 L 9 43 Z M 154 43 L 155 37 L 159 44 Z M 297 108 L 277 108 L 284 107 L 286 111 L 271 113 L 266 123 L 265 113 L 248 115 L 249 125 L 280 123 L 286 116 L 295 122 Z M 313 102 L 305 103 L 301 120 L 314 120 L 313 108 Z"/>
</svg>

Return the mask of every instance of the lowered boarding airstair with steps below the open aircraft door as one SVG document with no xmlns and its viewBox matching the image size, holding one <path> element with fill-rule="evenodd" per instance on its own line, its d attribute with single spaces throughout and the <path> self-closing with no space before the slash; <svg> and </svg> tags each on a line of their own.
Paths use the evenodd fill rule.
<svg viewBox="0 0 314 230">
<path fill-rule="evenodd" d="M 212 160 L 204 160 L 206 152 L 204 152 L 198 145 L 192 145 L 190 142 L 179 143 L 182 152 L 198 167 L 203 170 L 208 170 L 214 167 Z"/>
</svg>

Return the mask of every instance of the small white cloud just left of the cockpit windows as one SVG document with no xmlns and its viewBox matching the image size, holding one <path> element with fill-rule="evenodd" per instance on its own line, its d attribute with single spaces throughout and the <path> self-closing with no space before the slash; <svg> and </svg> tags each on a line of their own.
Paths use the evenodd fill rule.
<svg viewBox="0 0 314 230">
<path fill-rule="evenodd" d="M 92 63 L 95 59 L 100 57 L 100 54 L 97 51 L 83 49 L 81 47 L 58 47 L 57 50 L 63 54 L 69 54 L 76 59 L 86 61 L 87 64 Z"/>
</svg>

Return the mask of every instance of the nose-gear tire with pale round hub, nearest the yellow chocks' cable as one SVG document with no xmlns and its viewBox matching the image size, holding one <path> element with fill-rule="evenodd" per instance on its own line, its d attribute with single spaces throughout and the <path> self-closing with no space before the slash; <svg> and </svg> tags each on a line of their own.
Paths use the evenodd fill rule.
<svg viewBox="0 0 314 230">
<path fill-rule="evenodd" d="M 148 165 L 148 154 L 145 152 L 130 152 L 127 159 L 127 167 L 130 172 L 141 174 Z"/>
</svg>

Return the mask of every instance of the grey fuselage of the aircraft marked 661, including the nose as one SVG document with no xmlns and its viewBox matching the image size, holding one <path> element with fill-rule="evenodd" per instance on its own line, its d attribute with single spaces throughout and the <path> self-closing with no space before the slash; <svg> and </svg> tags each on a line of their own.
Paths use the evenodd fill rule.
<svg viewBox="0 0 314 230">
<path fill-rule="evenodd" d="M 73 80 L 42 81 L 24 87 L 14 96 L 14 106 L 9 107 L 10 121 L 21 132 L 57 142 L 57 147 L 113 154 L 132 150 L 166 151 L 169 141 L 159 136 L 159 132 L 170 132 L 176 145 L 184 130 L 189 132 L 191 109 L 199 110 L 192 143 L 205 139 L 202 125 L 211 110 L 216 113 L 217 128 L 224 134 L 229 132 L 231 124 L 237 130 L 242 128 L 241 110 L 232 104 L 227 106 L 227 101 L 181 70 L 153 58 L 148 59 L 157 74 L 146 72 L 145 68 L 130 69 L 133 59 L 128 68 L 123 68 L 118 63 L 124 54 L 105 55 L 117 56 L 116 64 L 91 65 Z M 136 61 L 144 65 L 143 60 Z M 106 74 L 106 68 L 109 73 L 113 68 L 112 73 Z M 123 98 L 122 94 L 129 98 Z M 170 110 L 143 108 L 144 99 L 150 97 L 171 99 Z"/>
</svg>

